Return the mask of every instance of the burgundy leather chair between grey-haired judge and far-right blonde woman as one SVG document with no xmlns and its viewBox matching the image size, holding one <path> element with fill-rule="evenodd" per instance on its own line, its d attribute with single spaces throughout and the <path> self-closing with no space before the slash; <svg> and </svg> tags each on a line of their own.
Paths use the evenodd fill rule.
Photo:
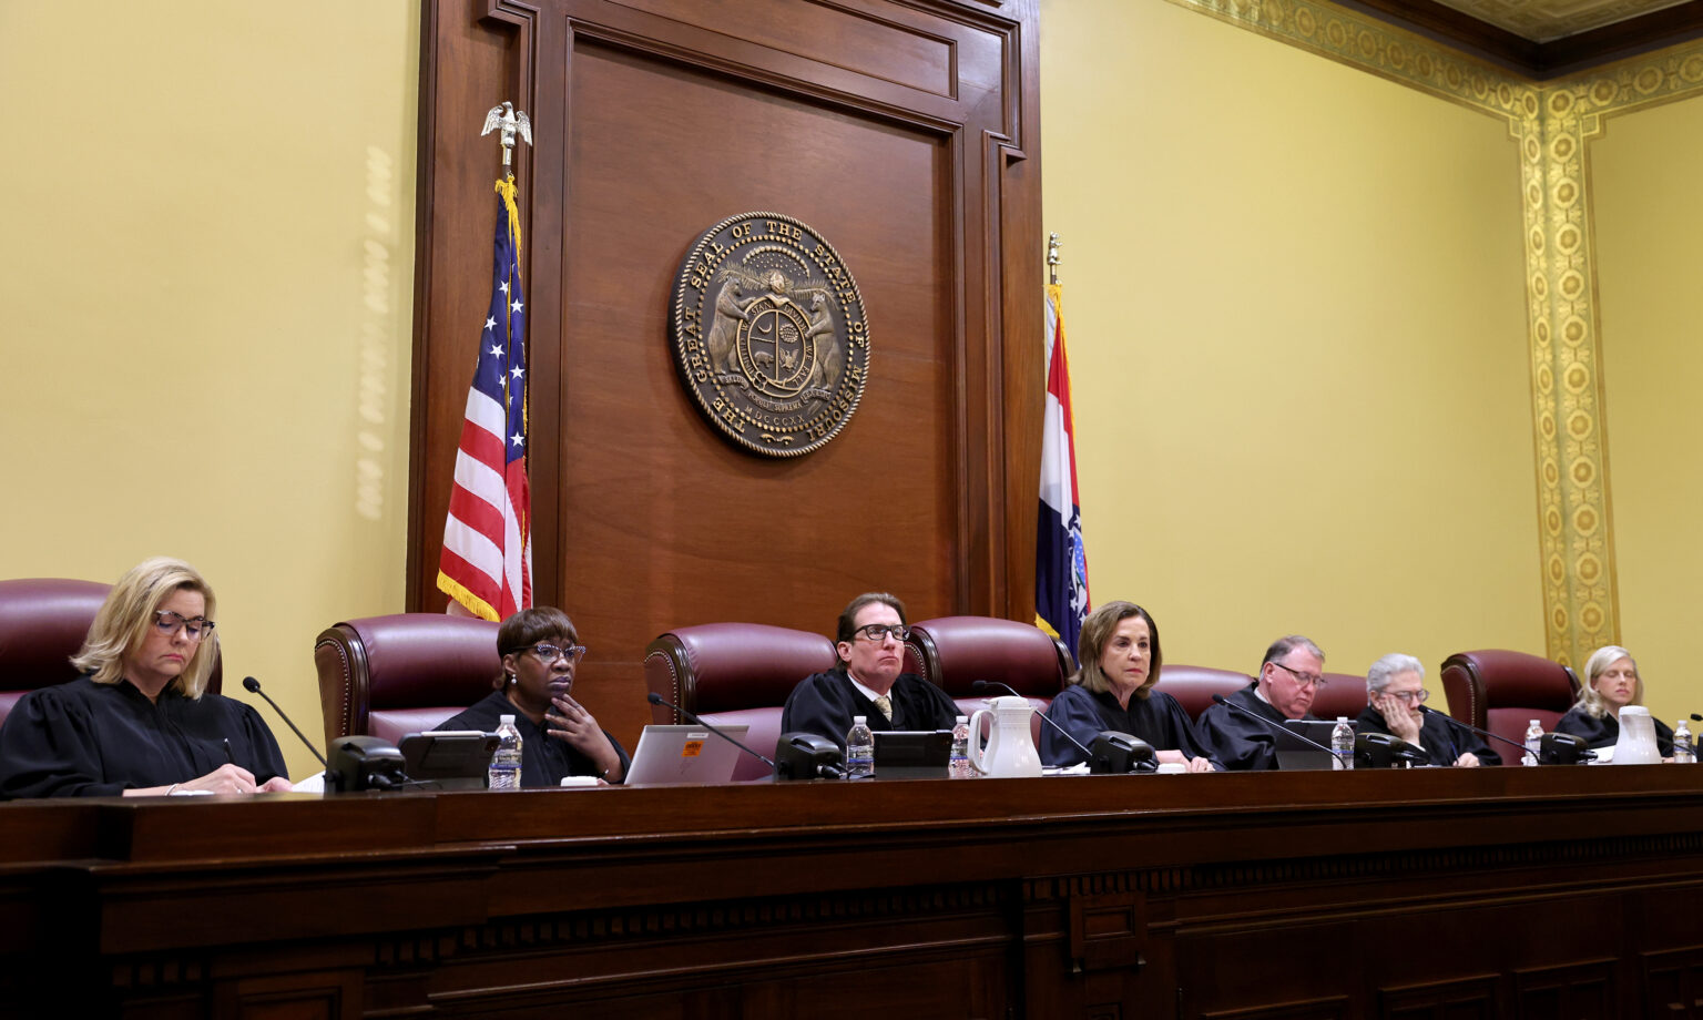
<svg viewBox="0 0 1703 1020">
<path fill-rule="evenodd" d="M 1442 661 L 1442 693 L 1449 715 L 1521 742 L 1533 719 L 1555 729 L 1579 698 L 1579 676 L 1541 656 L 1482 649 Z M 1519 765 L 1514 748 L 1499 742 L 1495 751 L 1504 765 Z"/>
</svg>

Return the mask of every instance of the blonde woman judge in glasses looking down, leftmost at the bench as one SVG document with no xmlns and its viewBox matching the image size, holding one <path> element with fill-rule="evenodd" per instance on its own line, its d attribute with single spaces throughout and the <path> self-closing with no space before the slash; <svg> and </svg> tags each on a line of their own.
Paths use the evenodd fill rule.
<svg viewBox="0 0 1703 1020">
<path fill-rule="evenodd" d="M 0 797 L 146 797 L 290 790 L 259 712 L 208 693 L 213 587 L 152 559 L 119 577 L 72 683 L 24 695 L 0 725 Z"/>
</svg>

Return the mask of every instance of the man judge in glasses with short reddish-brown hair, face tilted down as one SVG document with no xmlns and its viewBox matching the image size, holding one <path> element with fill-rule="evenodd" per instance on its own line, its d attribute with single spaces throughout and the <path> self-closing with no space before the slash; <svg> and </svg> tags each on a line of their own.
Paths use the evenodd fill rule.
<svg viewBox="0 0 1703 1020">
<path fill-rule="evenodd" d="M 1325 652 L 1298 633 L 1279 637 L 1265 649 L 1260 674 L 1224 698 L 1241 708 L 1213 705 L 1194 724 L 1207 756 L 1228 770 L 1277 768 L 1277 736 L 1286 719 L 1316 719 L 1308 712 L 1325 685 Z M 1270 722 L 1260 725 L 1248 713 Z"/>
</svg>

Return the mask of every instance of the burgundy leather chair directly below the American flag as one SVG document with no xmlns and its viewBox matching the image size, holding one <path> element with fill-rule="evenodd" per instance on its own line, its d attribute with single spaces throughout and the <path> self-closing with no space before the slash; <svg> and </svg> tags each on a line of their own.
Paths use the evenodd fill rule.
<svg viewBox="0 0 1703 1020">
<path fill-rule="evenodd" d="M 313 642 L 325 742 L 366 734 L 397 742 L 479 702 L 502 671 L 497 625 L 444 613 L 366 616 Z"/>
</svg>

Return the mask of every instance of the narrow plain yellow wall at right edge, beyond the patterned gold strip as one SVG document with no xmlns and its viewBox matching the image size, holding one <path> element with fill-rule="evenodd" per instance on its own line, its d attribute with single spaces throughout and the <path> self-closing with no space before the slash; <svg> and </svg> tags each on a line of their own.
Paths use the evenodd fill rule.
<svg viewBox="0 0 1703 1020">
<path fill-rule="evenodd" d="M 1691 647 L 1703 472 L 1688 455 L 1703 448 L 1698 167 L 1698 99 L 1616 116 L 1591 150 L 1621 644 L 1669 724 L 1703 710 Z"/>
</svg>

